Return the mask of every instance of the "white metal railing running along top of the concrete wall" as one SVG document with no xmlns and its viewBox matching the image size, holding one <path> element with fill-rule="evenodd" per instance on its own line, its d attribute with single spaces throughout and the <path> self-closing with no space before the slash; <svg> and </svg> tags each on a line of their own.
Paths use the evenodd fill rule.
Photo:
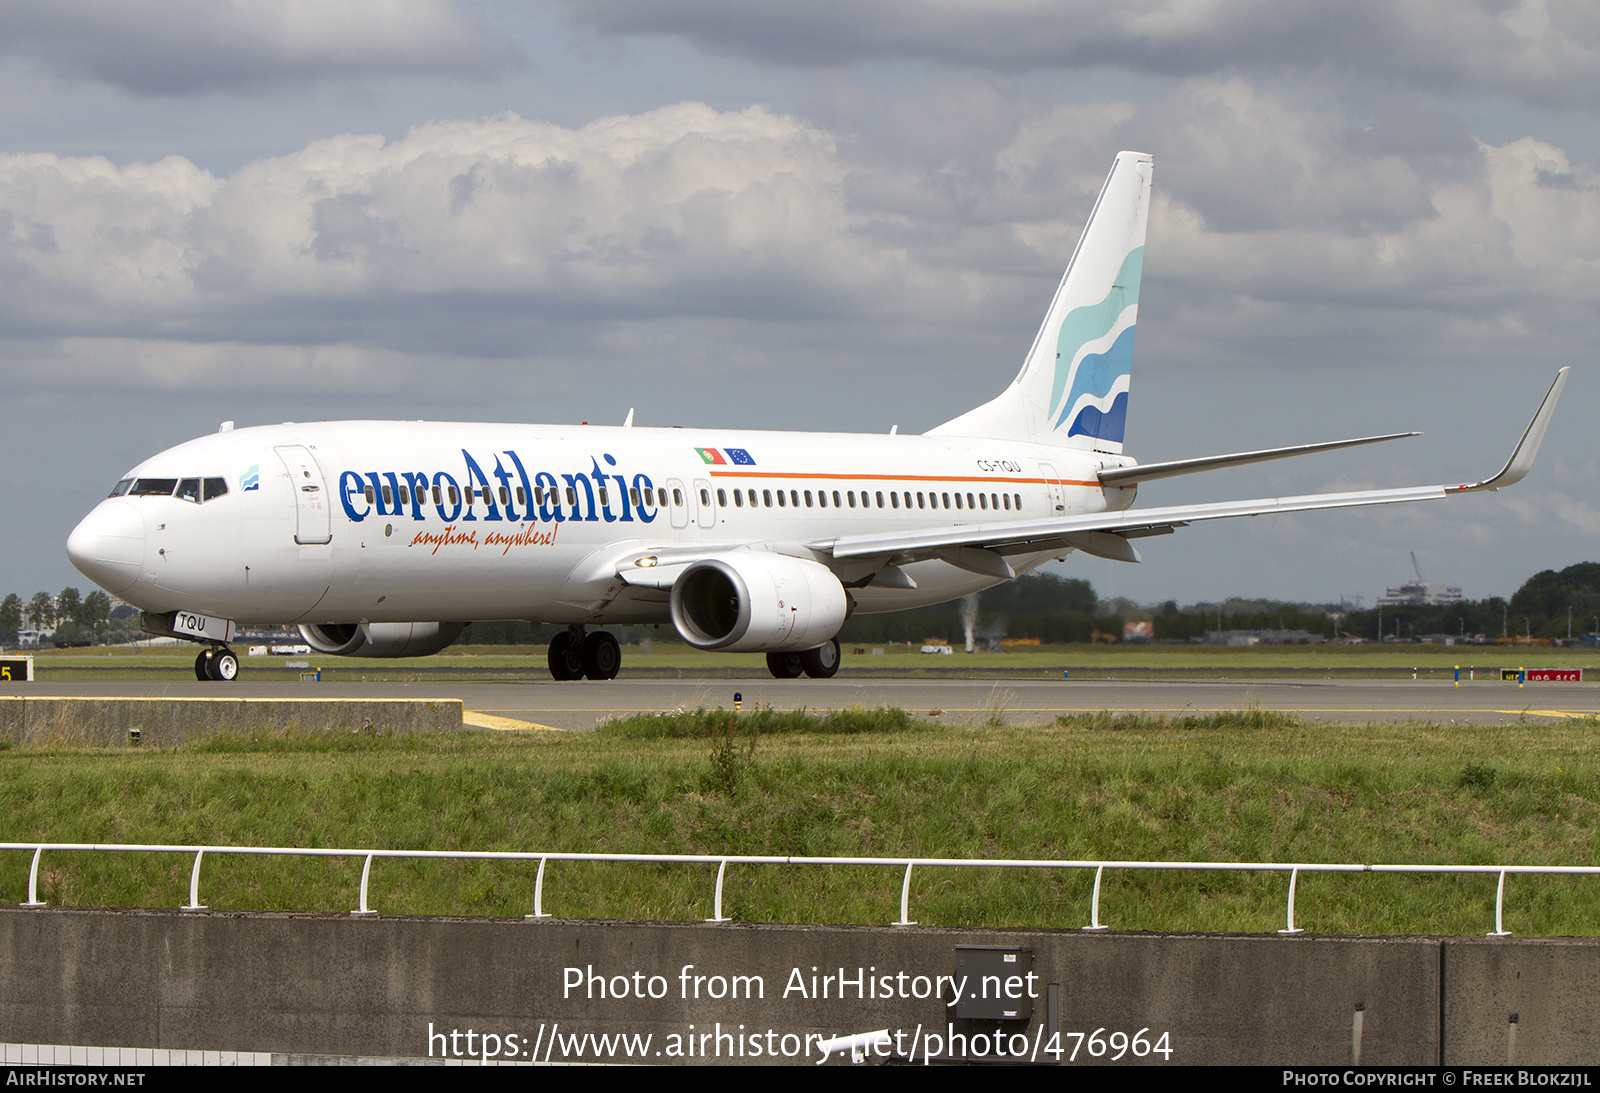
<svg viewBox="0 0 1600 1093">
<path fill-rule="evenodd" d="M 803 858 L 774 855 L 582 855 L 582 853 L 518 853 L 518 851 L 469 851 L 469 850 L 315 850 L 306 847 L 168 847 L 142 843 L 64 843 L 64 842 L 8 842 L 0 850 L 32 850 L 34 863 L 27 872 L 27 903 L 24 907 L 43 907 L 38 899 L 38 863 L 45 851 L 106 851 L 106 853 L 168 853 L 194 855 L 189 871 L 189 903 L 181 911 L 206 911 L 200 903 L 200 863 L 206 855 L 266 855 L 288 858 L 363 858 L 360 906 L 352 915 L 378 914 L 366 906 L 368 885 L 376 858 L 438 858 L 448 861 L 538 861 L 539 872 L 533 885 L 533 914 L 525 919 L 550 919 L 544 911 L 544 867 L 552 861 L 616 861 L 648 864 L 701 864 L 717 866 L 717 888 L 712 896 L 712 917 L 706 922 L 731 922 L 722 914 L 722 885 L 728 866 L 877 866 L 904 869 L 901 882 L 901 914 L 891 925 L 914 927 L 910 917 L 912 869 L 1093 869 L 1094 895 L 1090 903 L 1090 923 L 1083 930 L 1107 930 L 1101 920 L 1101 879 L 1107 869 L 1115 871 L 1210 871 L 1210 872 L 1286 872 L 1290 875 L 1286 925 L 1278 933 L 1302 933 L 1294 925 L 1294 888 L 1302 872 L 1382 872 L 1382 874 L 1498 874 L 1494 887 L 1494 930 L 1491 938 L 1509 936 L 1506 930 L 1506 877 L 1507 875 L 1594 875 L 1600 866 L 1374 866 L 1374 864 L 1314 864 L 1269 861 L 1072 861 L 1034 858 Z"/>
</svg>

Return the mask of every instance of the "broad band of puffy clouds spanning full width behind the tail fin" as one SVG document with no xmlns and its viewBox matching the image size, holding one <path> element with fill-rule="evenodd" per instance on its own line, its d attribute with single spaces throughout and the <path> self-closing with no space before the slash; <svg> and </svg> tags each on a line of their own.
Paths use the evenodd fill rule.
<svg viewBox="0 0 1600 1093">
<path fill-rule="evenodd" d="M 917 131 L 910 115 L 949 98 L 894 110 Z M 1010 365 L 965 365 L 1021 355 L 1112 152 L 1144 146 L 1147 325 L 1168 355 L 1318 368 L 1594 339 L 1600 179 L 1562 149 L 1462 136 L 1406 155 L 1245 80 L 1142 106 L 957 98 L 955 144 L 923 126 L 904 154 L 685 102 L 581 128 L 502 115 L 347 134 L 229 176 L 5 155 L 0 338 L 354 346 L 262 371 L 342 360 L 390 382 L 408 382 L 394 354 L 613 360 L 627 342 L 717 374 L 920 352 L 987 389 Z M 192 354 L 115 352 L 142 374 L 210 374 Z"/>
</svg>

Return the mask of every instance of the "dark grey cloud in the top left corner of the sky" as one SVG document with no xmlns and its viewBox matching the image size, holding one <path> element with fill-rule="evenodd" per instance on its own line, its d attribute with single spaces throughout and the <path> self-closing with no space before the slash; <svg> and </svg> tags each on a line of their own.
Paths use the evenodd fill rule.
<svg viewBox="0 0 1600 1093">
<path fill-rule="evenodd" d="M 515 58 L 451 0 L 0 0 L 0 53 L 138 94 L 482 77 Z"/>
</svg>

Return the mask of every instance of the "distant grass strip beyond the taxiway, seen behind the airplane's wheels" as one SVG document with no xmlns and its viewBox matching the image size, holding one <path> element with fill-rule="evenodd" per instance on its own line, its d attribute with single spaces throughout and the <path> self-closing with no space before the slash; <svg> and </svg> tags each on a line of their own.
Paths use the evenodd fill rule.
<svg viewBox="0 0 1600 1093">
<path fill-rule="evenodd" d="M 874 650 L 880 650 L 874 653 Z M 1045 645 L 1005 653 L 930 656 L 904 645 L 846 645 L 845 672 L 907 675 L 1048 675 L 1070 671 L 1096 675 L 1371 675 L 1446 679 L 1454 666 L 1480 672 L 1501 667 L 1600 667 L 1600 651 L 1530 645 Z M 402 680 L 448 672 L 451 675 L 506 675 L 528 672 L 544 677 L 544 647 L 456 645 L 434 656 L 406 661 L 370 661 L 338 656 L 240 658 L 245 679 L 254 674 L 298 677 L 286 659 L 310 661 L 326 680 Z M 190 679 L 194 648 L 40 650 L 34 661 L 40 680 L 64 679 Z M 658 642 L 648 650 L 622 650 L 622 675 L 765 675 L 758 653 L 701 653 L 678 642 Z"/>
</svg>

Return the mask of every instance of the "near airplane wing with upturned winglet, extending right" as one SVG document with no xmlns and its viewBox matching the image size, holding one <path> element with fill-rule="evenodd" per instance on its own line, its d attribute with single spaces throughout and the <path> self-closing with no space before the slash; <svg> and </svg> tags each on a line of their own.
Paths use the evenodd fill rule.
<svg viewBox="0 0 1600 1093">
<path fill-rule="evenodd" d="M 1178 504 L 1155 509 L 1128 509 L 1123 512 L 1088 512 L 1043 520 L 968 523 L 926 531 L 851 534 L 837 539 L 813 541 L 810 546 L 832 554 L 835 559 L 883 557 L 891 565 L 922 559 L 942 559 L 974 573 L 1008 578 L 1016 576 L 1011 565 L 1005 560 L 1008 554 L 1037 554 L 1072 547 L 1098 557 L 1138 562 L 1139 554 L 1128 539 L 1170 534 L 1174 528 L 1203 520 L 1432 501 L 1456 493 L 1501 490 L 1515 485 L 1533 469 L 1533 459 L 1539 453 L 1539 443 L 1544 440 L 1544 432 L 1550 424 L 1550 414 L 1555 413 L 1555 403 L 1562 395 L 1562 387 L 1566 384 L 1568 371 L 1568 368 L 1562 368 L 1555 374 L 1555 382 L 1550 384 L 1550 390 L 1544 395 L 1544 402 L 1539 403 L 1533 421 L 1522 434 L 1522 440 L 1517 442 L 1510 459 L 1506 461 L 1499 474 L 1483 482 Z"/>
</svg>

